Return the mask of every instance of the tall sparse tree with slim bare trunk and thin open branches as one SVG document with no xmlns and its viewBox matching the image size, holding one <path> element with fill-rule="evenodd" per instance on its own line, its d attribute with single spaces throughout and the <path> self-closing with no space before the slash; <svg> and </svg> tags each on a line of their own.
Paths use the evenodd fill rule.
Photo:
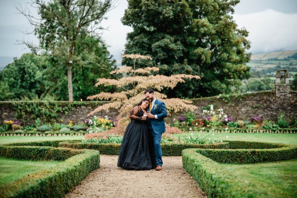
<svg viewBox="0 0 297 198">
<path fill-rule="evenodd" d="M 99 23 L 112 7 L 112 0 L 32 0 L 40 18 L 19 7 L 19 11 L 34 26 L 40 49 L 58 58 L 59 64 L 67 68 L 68 98 L 73 101 L 72 67 L 82 62 L 76 55 L 79 40 L 88 35 L 99 36 Z M 25 43 L 37 51 L 30 43 Z"/>
</svg>

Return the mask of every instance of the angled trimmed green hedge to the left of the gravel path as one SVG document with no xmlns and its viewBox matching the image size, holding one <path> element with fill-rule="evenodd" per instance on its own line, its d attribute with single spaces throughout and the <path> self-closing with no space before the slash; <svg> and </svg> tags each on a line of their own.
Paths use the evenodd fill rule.
<svg viewBox="0 0 297 198">
<path fill-rule="evenodd" d="M 99 151 L 53 147 L 0 146 L 0 156 L 16 159 L 65 160 L 0 187 L 0 197 L 62 198 L 90 172 L 99 168 Z"/>
</svg>

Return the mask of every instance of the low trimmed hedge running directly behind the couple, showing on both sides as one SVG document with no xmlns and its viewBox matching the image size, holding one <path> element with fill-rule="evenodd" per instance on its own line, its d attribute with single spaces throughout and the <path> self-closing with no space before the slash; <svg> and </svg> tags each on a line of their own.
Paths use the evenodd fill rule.
<svg viewBox="0 0 297 198">
<path fill-rule="evenodd" d="M 95 149 L 99 150 L 101 154 L 118 155 L 121 144 L 109 143 L 74 143 L 74 142 L 60 142 L 59 147 L 76 148 L 76 149 Z M 186 148 L 210 148 L 210 149 L 223 149 L 229 148 L 228 143 L 215 143 L 207 145 L 198 144 L 175 144 L 166 143 L 161 144 L 163 156 L 181 156 L 182 150 Z"/>
</svg>

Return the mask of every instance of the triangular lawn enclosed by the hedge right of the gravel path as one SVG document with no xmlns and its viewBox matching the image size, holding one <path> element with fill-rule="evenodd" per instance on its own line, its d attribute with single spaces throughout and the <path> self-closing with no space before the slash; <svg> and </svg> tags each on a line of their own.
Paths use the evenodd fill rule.
<svg viewBox="0 0 297 198">
<path fill-rule="evenodd" d="M 270 198 L 293 198 L 297 195 L 297 159 L 258 164 L 221 164 L 226 170 L 251 182 Z"/>
</svg>

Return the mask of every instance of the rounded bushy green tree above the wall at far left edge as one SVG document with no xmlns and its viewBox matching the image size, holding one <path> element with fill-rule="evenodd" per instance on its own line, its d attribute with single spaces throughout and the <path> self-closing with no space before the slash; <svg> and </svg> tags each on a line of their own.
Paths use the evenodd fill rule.
<svg viewBox="0 0 297 198">
<path fill-rule="evenodd" d="M 25 53 L 0 73 L 0 100 L 35 99 L 44 91 L 45 57 Z"/>
</svg>

